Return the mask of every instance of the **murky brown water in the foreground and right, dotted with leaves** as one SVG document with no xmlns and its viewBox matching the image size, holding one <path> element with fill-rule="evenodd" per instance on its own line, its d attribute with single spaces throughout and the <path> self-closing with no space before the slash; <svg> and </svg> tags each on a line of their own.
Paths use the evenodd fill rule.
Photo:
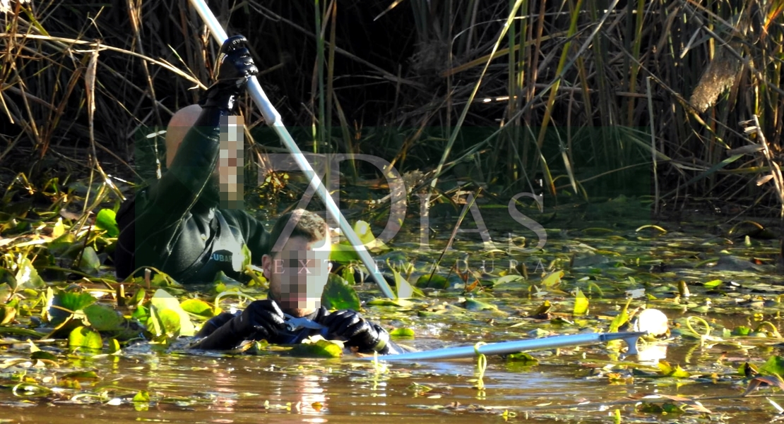
<svg viewBox="0 0 784 424">
<path fill-rule="evenodd" d="M 590 224 L 586 224 L 590 225 Z M 636 224 L 635 224 L 636 225 Z M 367 306 L 368 317 L 387 327 L 408 327 L 416 339 L 405 340 L 429 349 L 477 341 L 499 342 L 532 337 L 532 331 L 574 334 L 584 328 L 605 331 L 629 295 L 638 296 L 631 307 L 658 308 L 676 323 L 681 335 L 685 318 L 704 317 L 713 335 L 725 342 L 701 346 L 699 340 L 677 336 L 671 342 L 644 351 L 640 357 L 622 360 L 605 346 L 559 352 L 534 353 L 539 364 L 529 366 L 491 357 L 485 371 L 484 390 L 478 390 L 474 361 L 430 361 L 389 364 L 379 371 L 368 361 L 301 359 L 278 355 L 194 355 L 151 352 L 147 346 L 130 346 L 117 357 L 69 353 L 65 343 L 39 342 L 57 355 L 56 364 L 22 361 L 30 357 L 25 343 L 0 341 L 0 424 L 5 422 L 621 422 L 757 423 L 779 419 L 768 402 L 784 404 L 780 390 L 764 387 L 752 397 L 740 397 L 749 382 L 737 369 L 749 361 L 758 366 L 782 355 L 775 343 L 782 339 L 742 339 L 728 335 L 740 325 L 756 328 L 761 321 L 780 327 L 777 296 L 782 277 L 764 270 L 748 269 L 747 262 L 718 262 L 732 255 L 773 257 L 773 241 L 760 241 L 752 248 L 732 245 L 710 234 L 688 236 L 639 234 L 629 223 L 625 229 L 594 236 L 587 231 L 564 233 L 548 227 L 553 237 L 546 251 L 536 255 L 517 252 L 475 252 L 476 241 L 459 242 L 448 253 L 441 274 L 448 274 L 457 259 L 470 253 L 470 266 L 478 270 L 481 260 L 497 260 L 498 274 L 510 261 L 527 263 L 531 274 L 524 284 L 496 287 L 492 298 L 483 298 L 498 310 L 466 311 L 459 290 L 428 292 L 413 306 Z M 434 234 L 433 239 L 444 238 Z M 611 237 L 612 236 L 612 237 Z M 416 234 L 409 241 L 416 243 Z M 429 272 L 443 245 L 408 257 L 417 263 L 409 280 Z M 402 243 L 401 245 L 405 245 Z M 441 246 L 441 247 L 440 247 Z M 590 247 L 589 247 L 590 246 Z M 410 252 L 410 246 L 405 248 Z M 604 260 L 602 256 L 608 258 Z M 404 256 L 405 257 L 405 256 Z M 602 259 L 596 260 L 594 259 Z M 418 262 L 417 262 L 418 261 Z M 582 262 L 581 262 L 582 261 Z M 653 270 L 659 263 L 666 268 Z M 543 269 L 537 269 L 539 265 Z M 545 288 L 541 274 L 566 269 L 561 285 Z M 454 276 L 452 276 L 454 277 Z M 702 284 L 719 279 L 718 287 Z M 679 281 L 688 283 L 691 297 L 680 296 Z M 732 285 L 730 282 L 733 282 Z M 593 284 L 593 285 L 591 285 Z M 535 288 L 535 289 L 534 289 Z M 574 289 L 591 299 L 590 315 L 572 317 Z M 597 288 L 603 294 L 597 295 Z M 358 290 L 364 300 L 375 288 Z M 642 294 L 648 295 L 646 300 Z M 551 318 L 524 318 L 548 300 Z M 707 300 L 710 300 L 710 307 Z M 443 314 L 427 315 L 446 303 Z M 705 309 L 708 308 L 708 309 Z M 754 313 L 759 313 L 754 316 Z M 425 315 L 425 316 L 423 316 Z M 4 344 L 3 344 L 4 343 Z M 658 349 L 658 350 L 657 350 Z M 17 362 L 16 358 L 20 361 Z M 662 377 L 656 361 L 679 364 L 691 376 Z M 69 377 L 72 371 L 95 371 L 95 379 Z M 73 382 L 78 381 L 78 386 Z M 25 382 L 20 384 L 20 382 Z M 38 386 L 35 386 L 38 385 Z M 37 388 L 38 387 L 38 388 Z M 43 387 L 44 389 L 40 389 Z M 149 400 L 133 401 L 145 391 Z M 710 413 L 691 408 L 686 412 L 642 410 L 639 397 L 658 393 L 698 399 Z M 662 405 L 662 400 L 652 400 Z M 684 403 L 678 402 L 683 405 Z M 688 409 L 688 408 L 687 408 Z M 504 415 L 504 411 L 507 414 Z"/>
</svg>

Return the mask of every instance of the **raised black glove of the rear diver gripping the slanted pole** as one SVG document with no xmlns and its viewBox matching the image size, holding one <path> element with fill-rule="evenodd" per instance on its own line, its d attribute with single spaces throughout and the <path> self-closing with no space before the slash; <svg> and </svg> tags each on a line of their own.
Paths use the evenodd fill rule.
<svg viewBox="0 0 784 424">
<path fill-rule="evenodd" d="M 218 78 L 201 96 L 201 107 L 220 107 L 231 111 L 237 97 L 245 92 L 245 83 L 259 73 L 242 35 L 227 38 L 218 53 Z"/>
</svg>

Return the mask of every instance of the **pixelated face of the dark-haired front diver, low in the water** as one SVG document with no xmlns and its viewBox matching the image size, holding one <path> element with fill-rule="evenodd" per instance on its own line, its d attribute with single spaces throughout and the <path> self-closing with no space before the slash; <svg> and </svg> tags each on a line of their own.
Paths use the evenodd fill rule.
<svg viewBox="0 0 784 424">
<path fill-rule="evenodd" d="M 289 237 L 281 252 L 263 256 L 270 297 L 285 313 L 303 317 L 321 307 L 321 293 L 332 268 L 329 248 L 328 236 L 319 241 L 297 236 Z"/>
</svg>

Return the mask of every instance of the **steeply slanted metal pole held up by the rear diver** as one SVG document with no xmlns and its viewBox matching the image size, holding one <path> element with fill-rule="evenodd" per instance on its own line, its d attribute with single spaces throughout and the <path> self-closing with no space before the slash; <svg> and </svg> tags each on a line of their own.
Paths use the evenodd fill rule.
<svg viewBox="0 0 784 424">
<path fill-rule="evenodd" d="M 212 11 L 209 9 L 205 1 L 191 0 L 191 5 L 194 6 L 194 9 L 196 9 L 199 16 L 201 16 L 201 19 L 204 20 L 216 41 L 220 45 L 223 45 L 223 42 L 226 41 L 228 35 L 226 34 L 226 31 L 223 30 L 223 27 L 220 26 L 220 23 L 215 18 L 215 15 L 212 14 Z M 359 258 L 368 268 L 368 272 L 372 275 L 373 280 L 376 281 L 376 284 L 379 284 L 381 292 L 383 292 L 383 294 L 388 298 L 394 299 L 395 295 L 392 292 L 392 288 L 390 288 L 389 284 L 387 284 L 387 281 L 384 280 L 383 275 L 381 275 L 379 270 L 376 268 L 376 263 L 370 256 L 370 252 L 368 252 L 368 250 L 365 248 L 365 245 L 363 245 L 359 240 L 357 234 L 354 234 L 354 229 L 351 228 L 351 225 L 347 219 L 343 217 L 343 213 L 340 212 L 338 205 L 336 205 L 335 201 L 332 200 L 332 197 L 326 190 L 324 183 L 321 182 L 321 179 L 318 178 L 318 175 L 316 175 L 313 167 L 310 166 L 310 163 L 305 158 L 305 155 L 302 154 L 302 151 L 299 150 L 299 147 L 297 147 L 294 139 L 292 139 L 291 134 L 289 134 L 289 130 L 287 130 L 285 125 L 283 125 L 283 122 L 281 121 L 281 115 L 278 114 L 278 111 L 275 110 L 274 106 L 272 106 L 272 102 L 270 102 L 270 99 L 267 98 L 267 94 L 265 94 L 264 90 L 261 88 L 259 80 L 256 79 L 255 76 L 251 77 L 247 86 L 248 92 L 253 99 L 253 102 L 256 103 L 257 107 L 259 107 L 261 114 L 264 116 L 264 120 L 267 121 L 267 125 L 271 125 L 275 132 L 278 133 L 278 137 L 280 137 L 281 143 L 283 143 L 283 145 L 289 149 L 289 152 L 294 157 L 294 161 L 296 161 L 299 169 L 301 169 L 307 178 L 310 179 L 310 186 L 316 191 L 321 200 L 324 201 L 324 204 L 327 205 L 327 212 L 334 219 L 336 219 L 340 226 L 341 233 L 348 239 L 349 243 L 354 247 L 354 250 L 357 251 Z"/>
</svg>

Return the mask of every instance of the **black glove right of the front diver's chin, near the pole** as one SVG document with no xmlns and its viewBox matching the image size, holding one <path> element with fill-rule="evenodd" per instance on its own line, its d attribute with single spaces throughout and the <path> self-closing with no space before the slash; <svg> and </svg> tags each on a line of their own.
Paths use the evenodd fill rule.
<svg viewBox="0 0 784 424">
<path fill-rule="evenodd" d="M 369 323 L 355 310 L 339 310 L 330 313 L 322 322 L 328 328 L 330 337 L 346 339 L 346 346 L 359 350 L 375 350 L 387 353 L 390 335 L 377 324 Z"/>
</svg>

